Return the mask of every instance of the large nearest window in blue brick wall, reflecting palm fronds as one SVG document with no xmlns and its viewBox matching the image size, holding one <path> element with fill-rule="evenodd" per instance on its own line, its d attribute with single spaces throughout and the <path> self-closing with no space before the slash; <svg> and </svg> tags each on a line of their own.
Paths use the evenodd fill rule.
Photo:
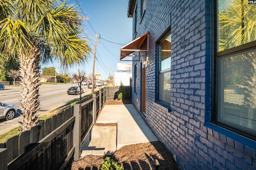
<svg viewBox="0 0 256 170">
<path fill-rule="evenodd" d="M 215 3 L 215 2 L 214 2 Z M 212 121 L 256 139 L 255 5 L 218 0 Z"/>
</svg>

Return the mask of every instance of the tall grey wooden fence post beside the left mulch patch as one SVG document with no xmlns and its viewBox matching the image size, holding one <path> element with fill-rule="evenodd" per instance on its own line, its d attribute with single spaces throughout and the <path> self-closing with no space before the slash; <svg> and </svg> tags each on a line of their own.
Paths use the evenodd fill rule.
<svg viewBox="0 0 256 170">
<path fill-rule="evenodd" d="M 76 118 L 73 130 L 74 160 L 79 160 L 81 156 L 81 104 L 74 105 L 74 116 Z"/>
</svg>

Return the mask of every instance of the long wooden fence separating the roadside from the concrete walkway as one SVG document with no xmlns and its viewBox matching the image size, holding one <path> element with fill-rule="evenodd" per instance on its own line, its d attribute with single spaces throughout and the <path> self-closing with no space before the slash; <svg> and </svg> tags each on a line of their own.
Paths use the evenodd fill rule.
<svg viewBox="0 0 256 170">
<path fill-rule="evenodd" d="M 106 101 L 105 94 L 110 95 L 108 91 L 109 87 L 102 88 L 30 130 L 0 143 L 0 170 L 63 170 L 72 160 L 78 160 L 81 143 Z"/>
</svg>

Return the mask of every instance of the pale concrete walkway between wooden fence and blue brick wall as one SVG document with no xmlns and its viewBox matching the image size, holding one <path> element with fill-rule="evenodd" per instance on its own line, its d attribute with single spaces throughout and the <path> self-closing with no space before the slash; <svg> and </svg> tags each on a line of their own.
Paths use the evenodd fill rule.
<svg viewBox="0 0 256 170">
<path fill-rule="evenodd" d="M 96 123 L 117 123 L 117 126 L 93 126 L 92 139 L 82 143 L 81 157 L 112 154 L 125 145 L 157 141 L 132 104 L 105 105 Z"/>
</svg>

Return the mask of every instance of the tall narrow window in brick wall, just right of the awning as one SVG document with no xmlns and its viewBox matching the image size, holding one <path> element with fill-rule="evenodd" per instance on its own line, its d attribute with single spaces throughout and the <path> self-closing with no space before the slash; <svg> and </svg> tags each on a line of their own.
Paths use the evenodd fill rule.
<svg viewBox="0 0 256 170">
<path fill-rule="evenodd" d="M 158 100 L 170 105 L 171 94 L 171 34 L 158 44 Z"/>
</svg>

